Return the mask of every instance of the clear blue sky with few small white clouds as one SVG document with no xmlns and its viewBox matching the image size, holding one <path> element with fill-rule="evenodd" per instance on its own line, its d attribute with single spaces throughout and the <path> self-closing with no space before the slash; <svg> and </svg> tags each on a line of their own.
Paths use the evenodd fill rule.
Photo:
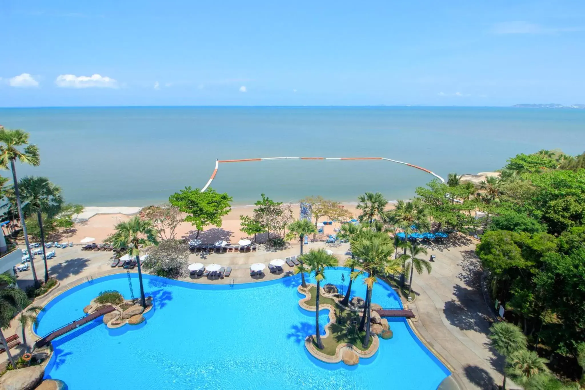
<svg viewBox="0 0 585 390">
<path fill-rule="evenodd" d="M 585 103 L 583 1 L 0 0 L 0 106 Z"/>
</svg>

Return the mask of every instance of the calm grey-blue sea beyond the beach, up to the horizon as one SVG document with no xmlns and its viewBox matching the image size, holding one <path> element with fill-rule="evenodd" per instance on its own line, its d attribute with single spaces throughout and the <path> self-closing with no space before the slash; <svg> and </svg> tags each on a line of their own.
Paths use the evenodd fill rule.
<svg viewBox="0 0 585 390">
<path fill-rule="evenodd" d="M 201 188 L 215 159 L 387 157 L 446 177 L 502 167 L 539 149 L 585 150 L 585 110 L 451 107 L 4 108 L 0 124 L 30 132 L 42 175 L 68 202 L 160 203 Z M 8 175 L 8 171 L 3 175 Z M 212 187 L 236 205 L 261 192 L 279 201 L 307 195 L 355 201 L 364 191 L 408 199 L 432 180 L 388 161 L 263 161 L 221 164 Z"/>
</svg>

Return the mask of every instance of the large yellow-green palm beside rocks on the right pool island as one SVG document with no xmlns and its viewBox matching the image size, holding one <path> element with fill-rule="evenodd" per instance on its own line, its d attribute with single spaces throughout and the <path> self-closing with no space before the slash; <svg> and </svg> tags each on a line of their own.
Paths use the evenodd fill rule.
<svg viewBox="0 0 585 390">
<path fill-rule="evenodd" d="M 367 346 L 370 342 L 371 291 L 374 284 L 378 281 L 378 276 L 402 272 L 402 266 L 399 260 L 392 258 L 392 240 L 384 232 L 363 230 L 357 234 L 352 251 L 362 261 L 362 269 L 352 272 L 351 277 L 356 279 L 367 275 L 363 281 L 366 285 L 366 298 L 359 327 L 360 332 L 366 331 L 363 344 Z"/>
</svg>

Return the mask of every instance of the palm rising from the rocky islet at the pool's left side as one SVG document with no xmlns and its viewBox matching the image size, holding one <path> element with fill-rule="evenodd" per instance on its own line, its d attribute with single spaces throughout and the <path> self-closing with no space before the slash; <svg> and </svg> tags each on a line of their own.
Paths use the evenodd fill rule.
<svg viewBox="0 0 585 390">
<path fill-rule="evenodd" d="M 126 222 L 120 222 L 115 226 L 113 234 L 113 247 L 116 249 L 127 249 L 126 253 L 136 258 L 138 268 L 138 281 L 140 283 L 140 305 L 146 308 L 144 298 L 144 287 L 142 284 L 142 270 L 140 270 L 140 249 L 159 244 L 157 232 L 149 219 L 142 220 L 140 216 L 133 216 Z"/>
</svg>

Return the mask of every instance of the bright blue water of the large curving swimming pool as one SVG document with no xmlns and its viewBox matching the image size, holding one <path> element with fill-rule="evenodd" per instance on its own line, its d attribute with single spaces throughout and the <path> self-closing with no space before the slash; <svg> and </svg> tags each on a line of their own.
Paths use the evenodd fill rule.
<svg viewBox="0 0 585 390">
<path fill-rule="evenodd" d="M 347 286 L 348 271 L 328 270 L 326 279 L 340 287 L 344 274 Z M 132 277 L 137 295 L 137 275 Z M 98 319 L 61 336 L 53 342 L 46 377 L 61 379 L 70 390 L 434 390 L 449 375 L 403 319 L 389 321 L 393 339 L 380 340 L 378 353 L 357 366 L 316 360 L 302 343 L 315 332 L 315 314 L 298 306 L 299 284 L 298 275 L 231 288 L 144 275 L 146 294 L 154 297 L 146 321 L 113 330 Z M 354 287 L 355 294 L 364 296 L 361 280 Z M 125 274 L 86 282 L 46 306 L 37 333 L 83 316 L 84 306 L 107 289 L 130 296 Z M 374 287 L 373 302 L 401 305 L 384 283 Z M 321 311 L 322 326 L 327 314 Z"/>
</svg>

